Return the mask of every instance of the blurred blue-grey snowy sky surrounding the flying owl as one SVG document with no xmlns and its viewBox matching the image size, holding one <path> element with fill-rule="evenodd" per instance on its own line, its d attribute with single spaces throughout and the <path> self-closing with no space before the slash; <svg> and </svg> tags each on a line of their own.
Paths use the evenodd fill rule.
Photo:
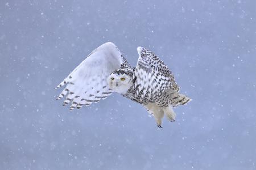
<svg viewBox="0 0 256 170">
<path fill-rule="evenodd" d="M 256 169 L 256 1 L 0 2 L 0 169 Z M 157 54 L 193 101 L 158 129 L 114 94 L 69 111 L 57 86 L 112 41 Z"/>
</svg>

